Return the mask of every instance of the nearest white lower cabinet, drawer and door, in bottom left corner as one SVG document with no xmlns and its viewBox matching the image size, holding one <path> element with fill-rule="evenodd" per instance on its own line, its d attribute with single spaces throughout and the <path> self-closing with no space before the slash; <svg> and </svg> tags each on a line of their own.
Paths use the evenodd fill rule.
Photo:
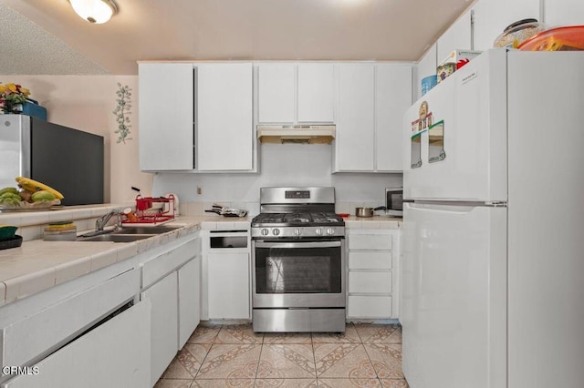
<svg viewBox="0 0 584 388">
<path fill-rule="evenodd" d="M 21 368 L 0 386 L 148 386 L 151 306 L 132 305 L 139 292 L 129 260 L 0 308 L 3 372 Z"/>
</svg>

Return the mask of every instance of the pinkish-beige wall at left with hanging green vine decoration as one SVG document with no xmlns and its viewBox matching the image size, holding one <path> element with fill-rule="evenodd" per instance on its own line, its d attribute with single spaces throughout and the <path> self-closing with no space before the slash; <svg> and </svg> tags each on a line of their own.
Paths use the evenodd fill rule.
<svg viewBox="0 0 584 388">
<path fill-rule="evenodd" d="M 47 107 L 48 121 L 104 137 L 106 202 L 126 202 L 135 198 L 135 186 L 151 193 L 151 174 L 138 165 L 138 77 L 136 76 L 1 76 L 3 84 L 14 82 L 30 89 L 31 98 Z M 118 82 L 132 90 L 130 138 L 116 143 Z M 59 188 L 55 188 L 59 189 Z"/>
</svg>

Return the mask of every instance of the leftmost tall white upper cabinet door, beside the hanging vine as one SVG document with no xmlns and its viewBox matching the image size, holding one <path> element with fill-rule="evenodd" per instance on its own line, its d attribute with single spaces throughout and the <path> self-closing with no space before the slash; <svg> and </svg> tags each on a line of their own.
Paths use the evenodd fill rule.
<svg viewBox="0 0 584 388">
<path fill-rule="evenodd" d="M 193 169 L 193 65 L 138 66 L 140 169 Z"/>
</svg>

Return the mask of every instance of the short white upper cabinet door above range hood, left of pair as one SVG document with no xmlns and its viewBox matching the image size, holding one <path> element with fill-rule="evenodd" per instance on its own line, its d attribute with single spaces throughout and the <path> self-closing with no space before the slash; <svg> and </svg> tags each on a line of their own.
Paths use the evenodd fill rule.
<svg viewBox="0 0 584 388">
<path fill-rule="evenodd" d="M 257 66 L 258 120 L 260 123 L 296 121 L 296 65 Z"/>
</svg>

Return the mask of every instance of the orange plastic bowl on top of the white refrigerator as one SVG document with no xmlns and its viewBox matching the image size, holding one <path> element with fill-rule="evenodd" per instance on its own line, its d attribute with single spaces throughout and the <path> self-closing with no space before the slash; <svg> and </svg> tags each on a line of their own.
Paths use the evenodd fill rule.
<svg viewBox="0 0 584 388">
<path fill-rule="evenodd" d="M 584 50 L 584 26 L 552 28 L 530 37 L 517 48 L 524 51 Z"/>
</svg>

